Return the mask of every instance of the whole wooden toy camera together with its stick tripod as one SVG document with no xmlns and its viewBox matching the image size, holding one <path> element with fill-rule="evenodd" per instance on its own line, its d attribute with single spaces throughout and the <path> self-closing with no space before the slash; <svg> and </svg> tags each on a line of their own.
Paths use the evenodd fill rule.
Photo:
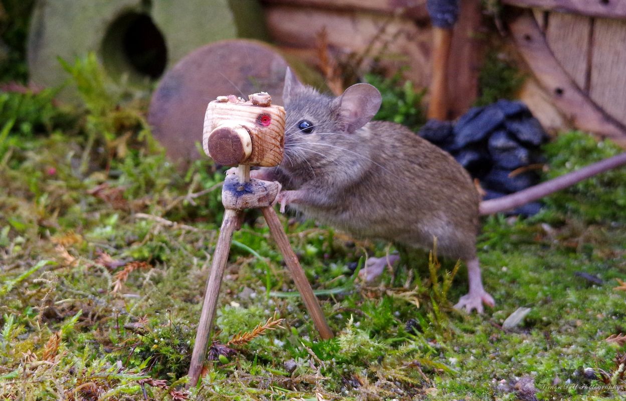
<svg viewBox="0 0 626 401">
<path fill-rule="evenodd" d="M 233 232 L 239 230 L 243 211 L 259 208 L 270 228 L 270 234 L 282 253 L 285 265 L 294 279 L 321 338 L 332 338 L 331 328 L 317 302 L 307 276 L 272 203 L 279 193 L 277 181 L 250 178 L 250 166 L 272 167 L 280 164 L 285 147 L 285 109 L 272 106 L 272 98 L 264 92 L 251 94 L 245 101 L 234 95 L 218 96 L 208 104 L 204 118 L 202 147 L 205 153 L 223 166 L 239 166 L 237 175 L 227 175 L 222 187 L 225 212 L 220 236 L 212 256 L 200 322 L 189 365 L 189 383 L 195 385 L 202 372 L 213 317 L 217 308 L 220 285 L 228 261 Z"/>
</svg>

